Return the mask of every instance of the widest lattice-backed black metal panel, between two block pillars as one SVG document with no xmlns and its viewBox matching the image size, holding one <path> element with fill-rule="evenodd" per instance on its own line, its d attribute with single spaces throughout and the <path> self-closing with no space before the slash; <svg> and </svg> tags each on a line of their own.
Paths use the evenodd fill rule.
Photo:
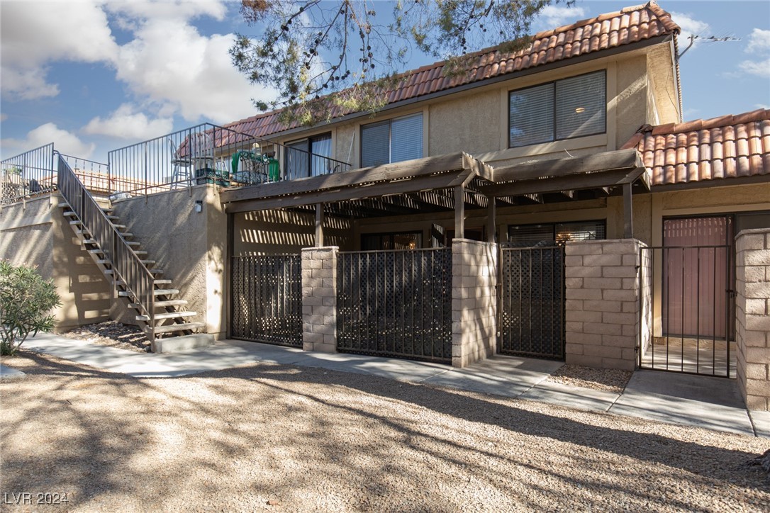
<svg viewBox="0 0 770 513">
<path fill-rule="evenodd" d="M 340 252 L 337 349 L 450 362 L 452 251 Z"/>
</svg>

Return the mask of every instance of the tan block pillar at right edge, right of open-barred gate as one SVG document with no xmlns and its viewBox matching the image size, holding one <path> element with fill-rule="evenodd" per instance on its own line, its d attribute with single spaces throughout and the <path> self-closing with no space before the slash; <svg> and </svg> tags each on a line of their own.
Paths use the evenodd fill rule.
<svg viewBox="0 0 770 513">
<path fill-rule="evenodd" d="M 735 239 L 738 388 L 750 410 L 770 411 L 770 229 Z"/>
</svg>

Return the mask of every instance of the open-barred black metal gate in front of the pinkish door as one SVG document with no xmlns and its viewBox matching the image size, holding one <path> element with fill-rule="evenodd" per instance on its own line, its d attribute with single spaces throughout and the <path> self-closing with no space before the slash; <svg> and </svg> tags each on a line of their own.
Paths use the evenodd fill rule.
<svg viewBox="0 0 770 513">
<path fill-rule="evenodd" d="M 639 366 L 735 377 L 731 245 L 641 248 Z"/>
</svg>

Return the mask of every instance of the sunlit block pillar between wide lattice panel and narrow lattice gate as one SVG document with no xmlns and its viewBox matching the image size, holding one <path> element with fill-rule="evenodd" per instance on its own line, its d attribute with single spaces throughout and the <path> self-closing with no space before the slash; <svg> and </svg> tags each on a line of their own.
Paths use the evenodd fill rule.
<svg viewBox="0 0 770 513">
<path fill-rule="evenodd" d="M 452 366 L 494 355 L 497 347 L 497 245 L 452 242 Z"/>
</svg>

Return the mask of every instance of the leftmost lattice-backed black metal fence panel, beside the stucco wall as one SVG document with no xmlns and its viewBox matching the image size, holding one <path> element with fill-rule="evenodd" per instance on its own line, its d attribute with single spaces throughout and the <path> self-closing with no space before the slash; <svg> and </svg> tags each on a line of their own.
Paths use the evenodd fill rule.
<svg viewBox="0 0 770 513">
<path fill-rule="evenodd" d="M 300 255 L 238 256 L 231 268 L 230 336 L 301 348 Z"/>
</svg>

